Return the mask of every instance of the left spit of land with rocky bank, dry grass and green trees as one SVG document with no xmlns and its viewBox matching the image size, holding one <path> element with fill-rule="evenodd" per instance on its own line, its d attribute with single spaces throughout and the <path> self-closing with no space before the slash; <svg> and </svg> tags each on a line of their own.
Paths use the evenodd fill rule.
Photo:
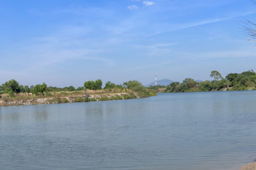
<svg viewBox="0 0 256 170">
<path fill-rule="evenodd" d="M 47 87 L 38 85 L 20 85 L 10 80 L 0 86 L 0 106 L 56 104 L 90 101 L 110 101 L 156 96 L 154 90 L 147 89 L 136 80 L 115 85 L 108 81 L 102 89 L 102 81 L 86 81 L 83 87 Z"/>
</svg>

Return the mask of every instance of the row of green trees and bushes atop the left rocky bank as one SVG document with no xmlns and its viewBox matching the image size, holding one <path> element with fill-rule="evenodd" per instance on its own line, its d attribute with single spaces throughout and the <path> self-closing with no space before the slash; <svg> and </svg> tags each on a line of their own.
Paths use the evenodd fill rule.
<svg viewBox="0 0 256 170">
<path fill-rule="evenodd" d="M 44 96 L 46 92 L 73 92 L 73 91 L 81 91 L 81 90 L 101 90 L 102 89 L 102 80 L 95 80 L 95 81 L 85 81 L 83 87 L 78 87 L 77 89 L 73 86 L 69 87 L 47 87 L 45 83 L 38 84 L 38 85 L 20 85 L 16 80 L 10 80 L 0 85 L 0 96 L 1 94 L 8 94 L 10 97 L 15 97 L 15 94 L 19 94 L 20 92 L 26 94 L 33 94 L 35 96 Z M 122 85 L 116 85 L 115 83 L 111 83 L 108 81 L 104 88 L 104 90 L 125 90 L 130 89 L 134 92 L 138 92 L 140 97 L 147 97 L 147 96 L 154 96 L 155 93 L 152 90 L 148 90 L 147 88 L 143 87 L 143 85 L 136 80 L 127 81 Z"/>
</svg>

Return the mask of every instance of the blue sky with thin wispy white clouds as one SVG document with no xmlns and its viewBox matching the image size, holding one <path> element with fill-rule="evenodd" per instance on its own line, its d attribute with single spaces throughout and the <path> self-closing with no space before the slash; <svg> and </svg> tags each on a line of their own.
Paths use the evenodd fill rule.
<svg viewBox="0 0 256 170">
<path fill-rule="evenodd" d="M 250 0 L 0 0 L 0 83 L 210 80 L 256 70 Z"/>
</svg>

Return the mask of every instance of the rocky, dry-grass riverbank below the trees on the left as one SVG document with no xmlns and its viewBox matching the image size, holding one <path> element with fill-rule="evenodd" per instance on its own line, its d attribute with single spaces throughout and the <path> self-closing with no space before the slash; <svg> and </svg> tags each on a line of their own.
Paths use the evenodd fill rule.
<svg viewBox="0 0 256 170">
<path fill-rule="evenodd" d="M 7 94 L 0 99 L 0 106 L 19 106 L 19 105 L 35 105 L 35 104 L 58 104 L 58 103 L 78 103 L 92 101 L 111 101 L 136 99 L 143 97 L 156 96 L 155 93 L 141 94 L 132 90 L 85 90 L 74 92 L 52 92 L 46 93 L 44 96 L 34 96 L 33 94 L 20 93 L 15 97 Z"/>
</svg>

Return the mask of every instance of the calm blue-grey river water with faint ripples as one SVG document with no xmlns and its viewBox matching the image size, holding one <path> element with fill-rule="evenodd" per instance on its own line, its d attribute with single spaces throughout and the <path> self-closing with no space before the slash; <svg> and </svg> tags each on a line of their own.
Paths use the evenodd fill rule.
<svg viewBox="0 0 256 170">
<path fill-rule="evenodd" d="M 239 169 L 256 92 L 0 108 L 0 169 Z"/>
</svg>

